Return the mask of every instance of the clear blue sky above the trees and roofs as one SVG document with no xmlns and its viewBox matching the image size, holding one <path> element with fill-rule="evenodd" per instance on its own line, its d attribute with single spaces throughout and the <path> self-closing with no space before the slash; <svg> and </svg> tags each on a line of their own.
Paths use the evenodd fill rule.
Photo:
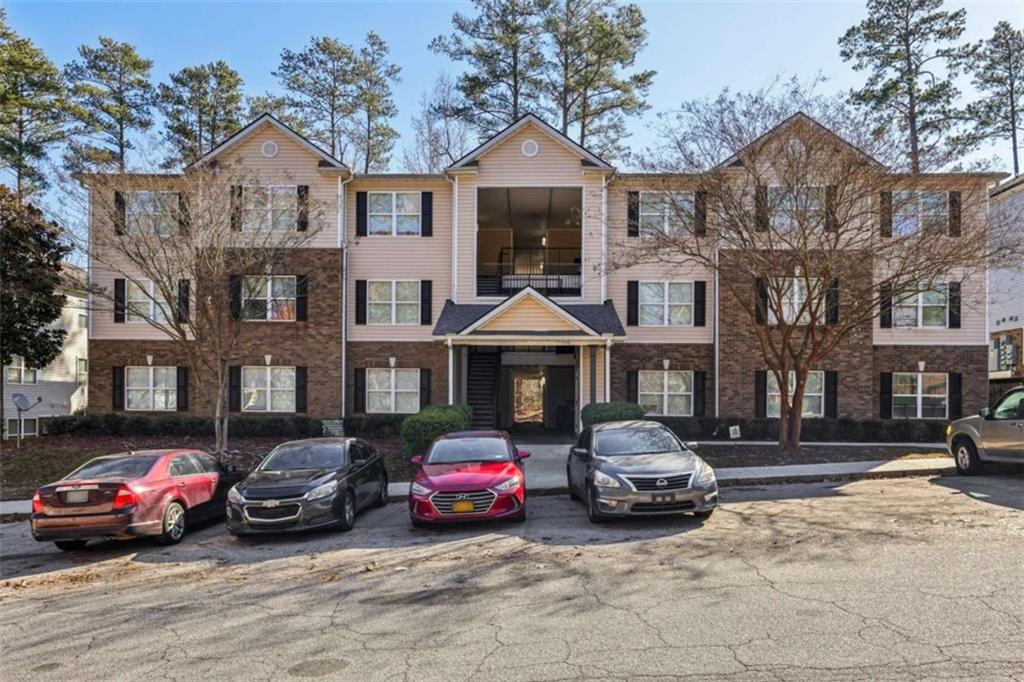
<svg viewBox="0 0 1024 682">
<path fill-rule="evenodd" d="M 647 127 L 657 112 L 684 99 L 711 96 L 723 87 L 757 88 L 776 76 L 811 77 L 821 72 L 837 90 L 858 85 L 863 76 L 839 57 L 837 39 L 865 14 L 861 0 L 690 2 L 639 0 L 649 30 L 638 65 L 657 76 L 648 99 L 651 111 L 630 124 L 631 146 L 652 140 Z M 947 2 L 968 8 L 967 39 L 987 38 L 996 22 L 1024 26 L 1024 0 Z M 427 49 L 451 30 L 454 11 L 469 2 L 19 2 L 4 0 L 13 28 L 30 37 L 58 65 L 76 57 L 83 42 L 99 35 L 133 43 L 155 61 L 155 80 L 182 67 L 224 59 L 245 79 L 247 94 L 276 90 L 270 72 L 284 47 L 301 48 L 312 35 L 359 43 L 376 31 L 402 68 L 395 89 L 395 126 L 410 137 L 417 101 L 442 72 L 459 65 Z M 969 84 L 964 83 L 969 90 Z M 401 141 L 395 157 L 400 155 Z M 987 152 L 985 156 L 1000 150 Z M 1000 155 L 1008 167 L 1009 154 Z M 394 159 L 392 166 L 396 167 Z"/>
</svg>

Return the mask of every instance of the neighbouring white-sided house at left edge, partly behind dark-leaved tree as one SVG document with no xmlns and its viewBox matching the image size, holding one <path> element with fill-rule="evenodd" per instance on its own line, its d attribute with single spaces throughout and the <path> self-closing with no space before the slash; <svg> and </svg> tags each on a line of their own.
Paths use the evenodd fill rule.
<svg viewBox="0 0 1024 682">
<path fill-rule="evenodd" d="M 87 404 L 89 310 L 88 299 L 80 284 L 85 278 L 77 267 L 69 265 L 67 271 L 68 285 L 61 291 L 68 300 L 60 318 L 54 322 L 54 326 L 68 332 L 60 354 L 41 369 L 25 367 L 23 358 L 17 356 L 4 368 L 5 438 L 17 435 L 15 393 L 24 394 L 35 406 L 23 416 L 23 436 L 39 435 L 46 430 L 47 418 L 70 415 Z"/>
</svg>

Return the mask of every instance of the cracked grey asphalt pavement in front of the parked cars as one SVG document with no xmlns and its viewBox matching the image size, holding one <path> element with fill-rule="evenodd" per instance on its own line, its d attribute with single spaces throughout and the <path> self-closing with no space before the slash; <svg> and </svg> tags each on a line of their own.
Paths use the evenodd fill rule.
<svg viewBox="0 0 1024 682">
<path fill-rule="evenodd" d="M 7 680 L 1024 680 L 1024 478 L 728 488 L 709 521 L 63 554 L 0 525 Z"/>
</svg>

